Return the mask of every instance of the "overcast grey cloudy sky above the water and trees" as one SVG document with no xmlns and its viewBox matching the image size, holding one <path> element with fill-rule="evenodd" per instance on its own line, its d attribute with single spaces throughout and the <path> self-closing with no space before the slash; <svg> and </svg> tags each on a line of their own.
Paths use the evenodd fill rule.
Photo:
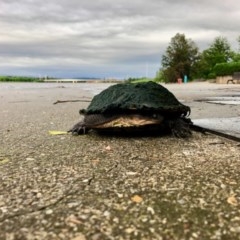
<svg viewBox="0 0 240 240">
<path fill-rule="evenodd" d="M 177 33 L 237 50 L 238 0 L 0 0 L 0 75 L 155 76 Z"/>
</svg>

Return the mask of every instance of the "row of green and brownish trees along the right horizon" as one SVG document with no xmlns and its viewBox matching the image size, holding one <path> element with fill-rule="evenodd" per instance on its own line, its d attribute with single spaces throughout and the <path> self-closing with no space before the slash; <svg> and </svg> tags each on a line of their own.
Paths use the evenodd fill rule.
<svg viewBox="0 0 240 240">
<path fill-rule="evenodd" d="M 162 56 L 156 81 L 176 82 L 184 77 L 189 80 L 212 79 L 240 71 L 240 36 L 237 42 L 239 49 L 236 52 L 226 37 L 219 36 L 208 49 L 200 52 L 193 40 L 177 33 Z"/>
</svg>

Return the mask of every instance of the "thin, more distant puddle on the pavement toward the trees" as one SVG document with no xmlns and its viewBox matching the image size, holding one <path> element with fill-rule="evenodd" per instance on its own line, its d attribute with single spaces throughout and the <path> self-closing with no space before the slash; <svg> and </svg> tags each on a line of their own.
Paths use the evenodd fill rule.
<svg viewBox="0 0 240 240">
<path fill-rule="evenodd" d="M 240 96 L 209 97 L 195 101 L 222 105 L 240 105 Z"/>
</svg>

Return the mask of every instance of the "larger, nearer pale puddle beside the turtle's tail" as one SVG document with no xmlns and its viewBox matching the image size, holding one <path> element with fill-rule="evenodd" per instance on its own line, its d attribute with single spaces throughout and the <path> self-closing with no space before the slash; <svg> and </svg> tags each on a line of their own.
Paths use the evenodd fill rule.
<svg viewBox="0 0 240 240">
<path fill-rule="evenodd" d="M 192 120 L 195 125 L 240 138 L 240 117 Z"/>
</svg>

